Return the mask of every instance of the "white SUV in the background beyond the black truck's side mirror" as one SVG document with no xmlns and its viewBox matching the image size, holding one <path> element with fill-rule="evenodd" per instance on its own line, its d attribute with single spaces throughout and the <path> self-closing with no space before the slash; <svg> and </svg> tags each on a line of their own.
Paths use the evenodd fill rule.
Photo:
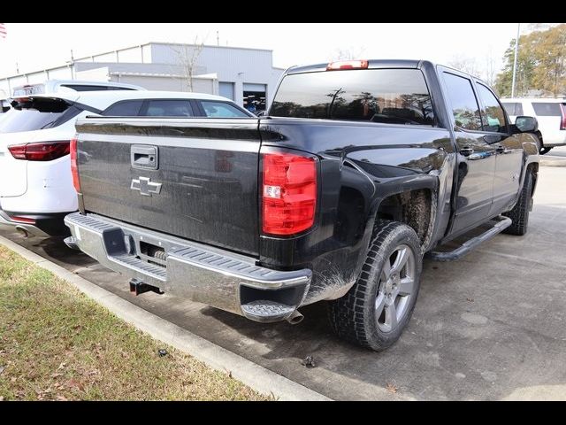
<svg viewBox="0 0 566 425">
<path fill-rule="evenodd" d="M 511 122 L 527 115 L 539 121 L 540 153 L 566 145 L 566 99 L 551 97 L 516 97 L 501 99 Z"/>
</svg>

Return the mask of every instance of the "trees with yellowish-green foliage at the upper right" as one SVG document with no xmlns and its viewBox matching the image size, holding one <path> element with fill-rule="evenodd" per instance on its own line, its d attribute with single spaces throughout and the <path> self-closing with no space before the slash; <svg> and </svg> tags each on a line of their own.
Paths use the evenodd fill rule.
<svg viewBox="0 0 566 425">
<path fill-rule="evenodd" d="M 497 75 L 495 89 L 502 97 L 511 95 L 515 39 L 505 51 L 503 71 Z M 541 90 L 546 96 L 566 95 L 566 24 L 519 37 L 516 64 L 516 96 Z"/>
</svg>

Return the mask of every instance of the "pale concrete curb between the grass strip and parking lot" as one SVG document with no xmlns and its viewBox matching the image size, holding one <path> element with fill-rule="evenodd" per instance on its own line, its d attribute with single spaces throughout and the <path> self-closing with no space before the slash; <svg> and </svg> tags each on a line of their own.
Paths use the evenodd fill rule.
<svg viewBox="0 0 566 425">
<path fill-rule="evenodd" d="M 284 401 L 304 400 L 304 401 L 331 401 L 316 391 L 310 390 L 300 383 L 295 383 L 285 376 L 276 374 L 265 367 L 207 341 L 201 336 L 197 336 L 187 329 L 180 328 L 169 321 L 158 317 L 156 314 L 149 313 L 137 305 L 133 305 L 119 296 L 112 294 L 108 290 L 97 286 L 86 279 L 69 272 L 63 267 L 44 259 L 40 255 L 27 250 L 18 243 L 0 236 L 0 244 L 11 251 L 17 252 L 23 258 L 31 261 L 38 267 L 49 270 L 57 277 L 73 284 L 78 290 L 94 299 L 98 304 L 103 305 L 120 319 L 134 325 L 135 328 L 146 332 L 150 336 L 172 345 L 181 352 L 190 354 L 195 359 L 203 361 L 213 369 L 227 372 L 245 383 L 252 389 L 265 394 L 272 395 L 274 398 Z"/>
</svg>

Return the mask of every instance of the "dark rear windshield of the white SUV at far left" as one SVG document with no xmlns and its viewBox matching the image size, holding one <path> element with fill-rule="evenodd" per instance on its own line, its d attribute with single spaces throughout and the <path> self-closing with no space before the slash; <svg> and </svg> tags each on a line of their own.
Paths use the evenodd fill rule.
<svg viewBox="0 0 566 425">
<path fill-rule="evenodd" d="M 55 128 L 77 116 L 82 110 L 69 107 L 65 102 L 52 99 L 37 99 L 20 102 L 3 115 L 0 133 L 16 133 Z"/>
</svg>

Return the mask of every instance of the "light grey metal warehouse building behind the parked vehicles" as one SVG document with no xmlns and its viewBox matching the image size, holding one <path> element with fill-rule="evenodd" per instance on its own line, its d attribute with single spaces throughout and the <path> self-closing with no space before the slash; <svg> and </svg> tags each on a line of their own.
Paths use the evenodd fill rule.
<svg viewBox="0 0 566 425">
<path fill-rule="evenodd" d="M 150 90 L 220 95 L 263 110 L 282 72 L 272 66 L 272 50 L 149 42 L 2 78 L 0 92 L 46 80 L 121 81 Z"/>
</svg>

